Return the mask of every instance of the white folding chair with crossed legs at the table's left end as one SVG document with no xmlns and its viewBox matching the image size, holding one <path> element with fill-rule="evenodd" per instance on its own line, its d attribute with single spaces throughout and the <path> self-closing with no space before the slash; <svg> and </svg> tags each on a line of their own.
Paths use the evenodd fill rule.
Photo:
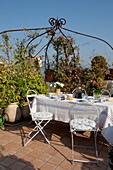
<svg viewBox="0 0 113 170">
<path fill-rule="evenodd" d="M 32 93 L 32 94 L 31 94 Z M 32 121 L 35 122 L 36 126 L 33 128 L 33 130 L 26 136 L 26 143 L 24 146 L 26 146 L 36 135 L 38 135 L 40 132 L 44 136 L 45 140 L 47 141 L 48 144 L 50 144 L 50 141 L 47 139 L 44 127 L 52 120 L 53 114 L 50 112 L 33 112 L 32 111 L 32 102 L 34 98 L 37 96 L 36 92 L 34 90 L 28 90 L 26 94 L 29 110 L 30 110 L 30 115 L 32 118 Z M 42 125 L 42 122 L 44 123 Z M 30 137 L 30 135 L 35 132 L 35 134 Z M 30 137 L 29 140 L 28 137 Z"/>
</svg>

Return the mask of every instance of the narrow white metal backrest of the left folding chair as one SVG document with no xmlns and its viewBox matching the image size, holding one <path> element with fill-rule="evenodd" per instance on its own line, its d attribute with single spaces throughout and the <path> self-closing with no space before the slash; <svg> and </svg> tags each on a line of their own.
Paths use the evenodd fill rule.
<svg viewBox="0 0 113 170">
<path fill-rule="evenodd" d="M 34 90 L 28 90 L 26 93 L 26 99 L 28 102 L 30 114 L 32 113 L 32 101 L 33 101 L 34 97 L 36 97 L 36 96 L 37 96 L 37 93 Z"/>
</svg>

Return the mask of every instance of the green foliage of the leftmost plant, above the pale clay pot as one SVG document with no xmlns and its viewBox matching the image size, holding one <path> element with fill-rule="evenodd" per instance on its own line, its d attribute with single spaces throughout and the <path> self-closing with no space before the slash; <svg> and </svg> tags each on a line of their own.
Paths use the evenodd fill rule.
<svg viewBox="0 0 113 170">
<path fill-rule="evenodd" d="M 14 74 L 14 66 L 7 67 L 6 65 L 1 70 L 0 75 L 0 107 L 5 108 L 12 102 L 18 102 L 19 94 L 16 92 L 16 79 Z"/>
</svg>

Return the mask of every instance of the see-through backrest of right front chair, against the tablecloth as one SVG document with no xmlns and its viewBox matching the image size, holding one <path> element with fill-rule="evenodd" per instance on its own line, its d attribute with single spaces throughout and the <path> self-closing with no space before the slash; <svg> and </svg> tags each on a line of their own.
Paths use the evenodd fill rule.
<svg viewBox="0 0 113 170">
<path fill-rule="evenodd" d="M 98 106 L 89 103 L 74 103 L 69 110 L 70 121 L 72 119 L 90 119 L 95 121 L 99 127 L 99 110 Z"/>
</svg>

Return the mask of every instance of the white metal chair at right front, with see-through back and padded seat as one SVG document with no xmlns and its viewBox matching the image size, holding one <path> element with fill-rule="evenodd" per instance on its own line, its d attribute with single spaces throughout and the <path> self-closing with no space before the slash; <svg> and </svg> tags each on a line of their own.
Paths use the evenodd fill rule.
<svg viewBox="0 0 113 170">
<path fill-rule="evenodd" d="M 84 162 L 84 163 L 99 163 L 98 160 L 98 150 L 97 150 L 97 131 L 99 130 L 99 113 L 96 105 L 89 103 L 78 103 L 73 104 L 69 110 L 70 117 L 70 131 L 71 131 L 71 141 L 72 141 L 72 162 Z M 94 147 L 90 146 L 79 146 L 75 145 L 74 135 L 77 131 L 90 131 L 94 132 Z M 89 142 L 89 141 L 88 141 Z M 83 144 L 85 145 L 85 144 Z M 89 143 L 90 145 L 90 143 Z M 87 158 L 84 155 L 83 159 L 77 160 L 75 158 L 75 148 L 95 148 L 95 159 Z M 79 150 L 79 149 L 78 149 Z M 85 160 L 87 158 L 88 160 Z"/>
</svg>

